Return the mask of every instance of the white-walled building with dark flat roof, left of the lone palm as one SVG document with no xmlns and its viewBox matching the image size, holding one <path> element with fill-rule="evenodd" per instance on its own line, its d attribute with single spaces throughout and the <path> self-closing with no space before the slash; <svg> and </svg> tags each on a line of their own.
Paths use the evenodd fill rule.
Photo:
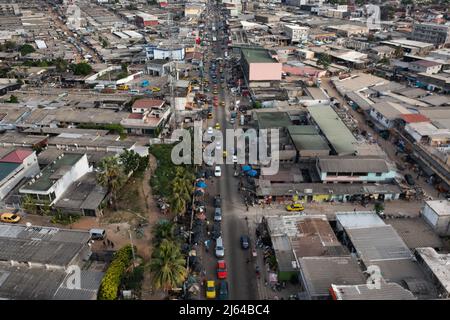
<svg viewBox="0 0 450 320">
<path fill-rule="evenodd" d="M 37 204 L 54 204 L 69 186 L 92 172 L 86 154 L 65 153 L 45 167 L 37 177 L 22 186 L 19 192 L 28 194 Z"/>
</svg>

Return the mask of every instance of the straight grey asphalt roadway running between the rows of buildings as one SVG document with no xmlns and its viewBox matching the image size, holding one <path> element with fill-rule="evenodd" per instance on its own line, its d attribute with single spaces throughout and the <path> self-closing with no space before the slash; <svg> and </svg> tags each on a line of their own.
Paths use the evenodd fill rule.
<svg viewBox="0 0 450 320">
<path fill-rule="evenodd" d="M 218 21 L 216 19 L 214 20 L 215 22 Z M 217 37 L 219 41 L 216 44 L 212 43 L 213 48 L 211 49 L 214 50 L 215 57 L 220 56 L 223 58 L 223 52 L 219 44 L 221 43 L 220 40 L 222 37 L 223 33 L 220 32 Z M 225 70 L 224 73 L 226 74 Z M 210 79 L 210 83 L 212 83 L 212 79 Z M 214 119 L 209 120 L 208 126 L 213 126 L 218 122 L 225 137 L 225 130 L 232 128 L 232 125 L 229 123 L 230 115 L 228 107 L 230 102 L 233 101 L 233 98 L 229 96 L 226 85 L 221 86 L 219 84 L 219 101 L 225 101 L 226 105 L 225 107 L 221 107 L 220 105 L 214 107 Z M 224 141 L 222 145 L 225 146 L 226 142 Z M 221 167 L 222 176 L 220 178 L 213 178 L 214 183 L 209 188 L 211 198 L 207 212 L 209 211 L 208 219 L 212 221 L 212 196 L 220 194 L 223 212 L 222 237 L 225 247 L 225 261 L 228 267 L 229 298 L 232 300 L 258 299 L 254 266 L 252 263 L 247 263 L 247 260 L 251 258 L 251 251 L 242 250 L 239 243 L 242 234 L 249 234 L 247 221 L 245 220 L 247 214 L 246 208 L 238 191 L 239 180 L 233 176 L 233 165 L 223 164 Z M 210 249 L 210 253 L 206 253 L 203 260 L 207 278 L 215 279 L 215 264 L 217 260 L 215 258 L 213 259 L 214 245 L 211 245 Z"/>
</svg>

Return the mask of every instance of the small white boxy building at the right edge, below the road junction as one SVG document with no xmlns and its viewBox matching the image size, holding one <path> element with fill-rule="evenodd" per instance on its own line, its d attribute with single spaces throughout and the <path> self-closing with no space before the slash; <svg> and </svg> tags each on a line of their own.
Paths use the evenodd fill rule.
<svg viewBox="0 0 450 320">
<path fill-rule="evenodd" d="M 426 201 L 421 210 L 422 217 L 440 236 L 450 236 L 450 201 Z"/>
</svg>

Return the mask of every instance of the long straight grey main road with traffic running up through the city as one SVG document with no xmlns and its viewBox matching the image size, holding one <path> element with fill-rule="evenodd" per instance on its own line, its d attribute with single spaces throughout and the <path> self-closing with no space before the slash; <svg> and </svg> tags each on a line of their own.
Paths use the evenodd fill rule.
<svg viewBox="0 0 450 320">
<path fill-rule="evenodd" d="M 217 31 L 211 31 L 210 39 L 216 38 L 216 41 L 211 41 L 208 48 L 208 53 L 212 53 L 212 59 L 222 58 L 224 59 L 224 49 L 222 44 L 226 43 L 227 35 L 220 27 L 221 19 L 223 22 L 223 16 L 219 12 L 217 7 L 211 7 L 209 16 L 206 18 L 208 24 L 215 26 Z M 212 28 L 211 28 L 212 30 Z M 226 48 L 226 47 L 225 47 Z M 226 50 L 226 49 L 225 49 Z M 207 65 L 211 65 L 211 61 L 207 61 Z M 205 70 L 206 74 L 206 70 Z M 208 72 L 209 74 L 209 72 Z M 217 73 L 217 78 L 224 75 L 225 80 L 223 83 L 218 82 L 217 94 L 219 102 L 225 102 L 224 105 L 219 105 L 213 109 L 213 119 L 208 120 L 208 127 L 216 126 L 218 123 L 222 134 L 225 137 L 225 130 L 231 129 L 236 124 L 230 123 L 230 111 L 229 107 L 234 103 L 234 99 L 231 97 L 227 88 L 227 80 L 231 75 L 230 64 L 224 64 L 222 72 Z M 213 87 L 214 79 L 209 74 L 209 83 Z M 238 122 L 238 119 L 236 119 Z M 223 141 L 222 146 L 225 146 L 226 142 Z M 239 165 L 238 165 L 239 167 Z M 256 286 L 256 274 L 255 267 L 252 261 L 251 247 L 249 249 L 242 249 L 240 245 L 240 237 L 242 235 L 250 236 L 250 244 L 253 245 L 254 235 L 250 234 L 249 221 L 246 219 L 247 210 L 244 206 L 242 195 L 239 191 L 239 178 L 234 176 L 234 165 L 223 164 L 221 165 L 221 177 L 214 177 L 213 185 L 209 188 L 210 200 L 209 204 L 213 203 L 213 196 L 220 195 L 222 199 L 222 238 L 225 248 L 225 261 L 227 264 L 227 281 L 229 283 L 229 299 L 233 300 L 247 300 L 258 299 L 258 292 Z M 209 207 L 207 209 L 208 219 L 213 220 L 214 209 Z M 207 257 L 204 260 L 206 277 L 207 279 L 216 278 L 216 265 L 217 259 L 214 257 L 214 246 L 212 250 L 209 250 Z M 216 280 L 217 281 L 217 280 Z"/>
</svg>

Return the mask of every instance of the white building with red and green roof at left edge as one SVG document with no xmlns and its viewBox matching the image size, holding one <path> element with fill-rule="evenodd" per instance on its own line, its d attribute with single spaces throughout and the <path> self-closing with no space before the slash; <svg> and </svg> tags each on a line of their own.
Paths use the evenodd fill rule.
<svg viewBox="0 0 450 320">
<path fill-rule="evenodd" d="M 0 158 L 0 200 L 2 200 L 23 178 L 39 173 L 36 153 L 17 149 Z"/>
</svg>

